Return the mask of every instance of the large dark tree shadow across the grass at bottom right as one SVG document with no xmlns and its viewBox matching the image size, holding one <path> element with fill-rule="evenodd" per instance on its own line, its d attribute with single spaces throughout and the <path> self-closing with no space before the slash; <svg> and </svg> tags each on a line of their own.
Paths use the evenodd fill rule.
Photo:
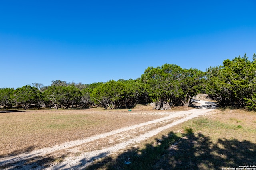
<svg viewBox="0 0 256 170">
<path fill-rule="evenodd" d="M 184 135 L 180 138 L 170 132 L 157 145 L 155 142 L 147 144 L 144 149 L 129 149 L 115 159 L 110 156 L 102 158 L 86 170 L 222 170 L 256 165 L 255 143 L 226 138 L 213 143 L 202 133 Z"/>
</svg>

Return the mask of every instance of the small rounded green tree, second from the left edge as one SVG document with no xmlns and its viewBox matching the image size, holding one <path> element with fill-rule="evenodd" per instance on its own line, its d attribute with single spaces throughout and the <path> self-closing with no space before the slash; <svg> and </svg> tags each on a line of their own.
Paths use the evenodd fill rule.
<svg viewBox="0 0 256 170">
<path fill-rule="evenodd" d="M 17 88 L 12 92 L 12 99 L 25 110 L 32 104 L 38 104 L 41 97 L 41 92 L 36 87 L 30 85 Z"/>
</svg>

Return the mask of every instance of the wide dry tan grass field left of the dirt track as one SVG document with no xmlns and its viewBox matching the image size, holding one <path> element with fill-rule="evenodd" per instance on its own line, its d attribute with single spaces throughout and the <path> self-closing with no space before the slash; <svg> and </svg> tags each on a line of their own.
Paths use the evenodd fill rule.
<svg viewBox="0 0 256 170">
<path fill-rule="evenodd" d="M 83 139 L 164 116 L 150 114 L 152 107 L 138 105 L 132 112 L 102 108 L 0 112 L 0 156 Z M 184 109 L 188 108 L 177 107 L 173 111 Z"/>
</svg>

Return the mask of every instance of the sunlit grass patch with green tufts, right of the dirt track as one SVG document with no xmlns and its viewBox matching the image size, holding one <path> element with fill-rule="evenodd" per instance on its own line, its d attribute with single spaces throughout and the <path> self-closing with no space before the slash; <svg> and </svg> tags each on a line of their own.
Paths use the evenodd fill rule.
<svg viewBox="0 0 256 170">
<path fill-rule="evenodd" d="M 191 127 L 194 131 L 198 131 L 204 135 L 210 135 L 214 142 L 221 138 L 255 142 L 255 121 L 255 112 L 248 112 L 240 109 L 226 109 L 225 111 L 218 111 L 218 113 L 211 115 L 208 118 L 200 118 L 190 121 L 186 126 Z M 200 130 L 202 127 L 196 126 L 196 124 L 204 125 L 205 127 L 203 130 Z"/>
</svg>

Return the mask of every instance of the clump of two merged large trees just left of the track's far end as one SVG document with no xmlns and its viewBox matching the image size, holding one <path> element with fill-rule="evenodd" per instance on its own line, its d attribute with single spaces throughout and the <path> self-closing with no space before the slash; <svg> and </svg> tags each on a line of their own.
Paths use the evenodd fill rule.
<svg viewBox="0 0 256 170">
<path fill-rule="evenodd" d="M 171 109 L 172 105 L 189 106 L 192 96 L 200 90 L 204 72 L 182 69 L 175 64 L 148 67 L 141 76 L 149 96 L 156 102 L 154 109 Z"/>
</svg>

